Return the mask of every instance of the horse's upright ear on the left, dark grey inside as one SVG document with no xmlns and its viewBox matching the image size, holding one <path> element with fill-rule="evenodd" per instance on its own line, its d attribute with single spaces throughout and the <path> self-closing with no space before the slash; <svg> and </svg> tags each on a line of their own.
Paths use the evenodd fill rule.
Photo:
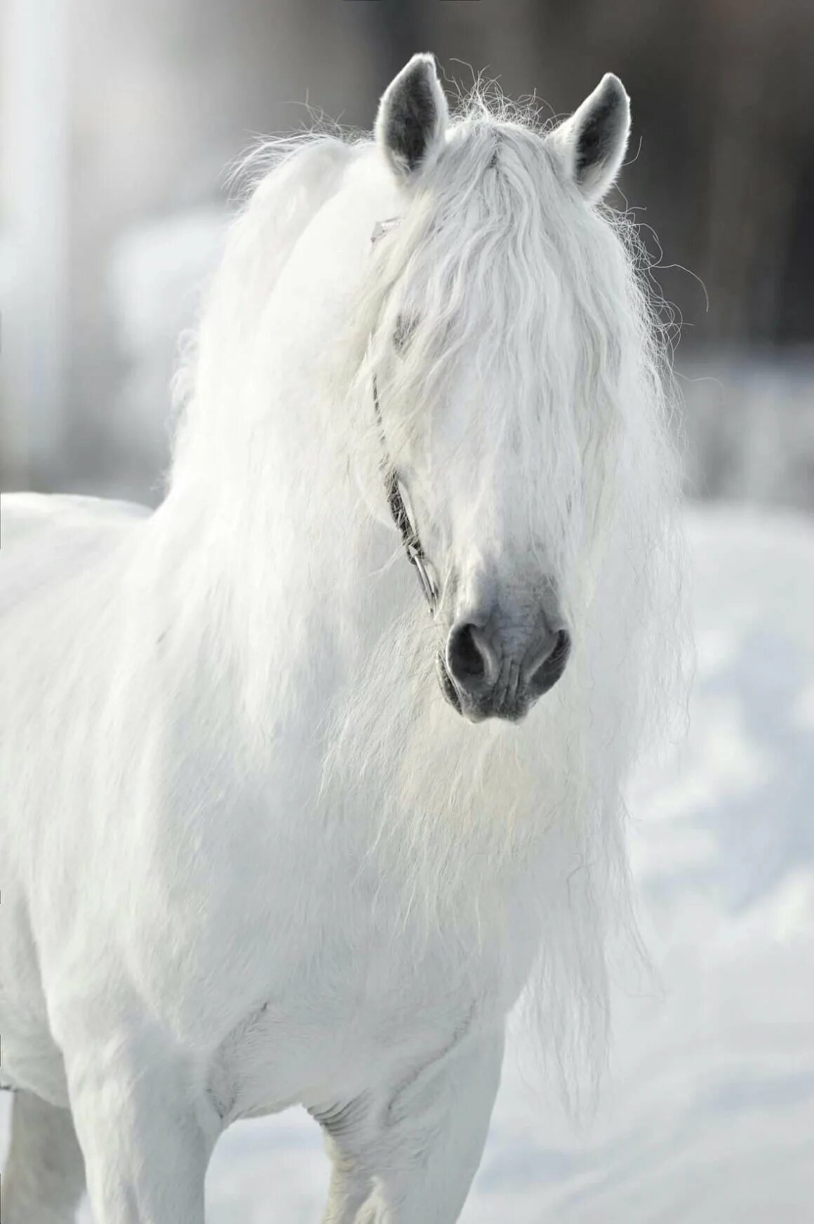
<svg viewBox="0 0 814 1224">
<path fill-rule="evenodd" d="M 433 56 L 414 55 L 384 91 L 376 116 L 376 140 L 399 179 L 410 179 L 437 153 L 447 119 Z"/>
</svg>

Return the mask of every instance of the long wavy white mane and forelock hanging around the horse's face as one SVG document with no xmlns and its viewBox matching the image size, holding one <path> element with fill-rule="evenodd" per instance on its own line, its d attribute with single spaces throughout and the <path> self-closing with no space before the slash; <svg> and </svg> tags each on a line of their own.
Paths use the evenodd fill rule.
<svg viewBox="0 0 814 1224">
<path fill-rule="evenodd" d="M 446 924 L 450 976 L 475 980 L 507 907 L 528 912 L 540 1032 L 566 1077 L 585 1049 L 595 1072 L 607 940 L 635 939 L 625 776 L 668 725 L 682 671 L 670 379 L 634 228 L 574 208 L 534 119 L 482 95 L 409 206 L 367 138 L 311 135 L 263 158 L 180 381 L 169 494 L 201 508 L 219 559 L 219 649 L 241 668 L 253 752 L 305 717 L 297 676 L 317 640 L 307 667 L 335 696 L 302 736 L 323 761 L 326 829 L 368 823 L 381 889 L 405 930 L 415 916 Z M 371 248 L 371 223 L 393 211 Z M 308 283 L 328 250 L 327 279 Z M 484 386 L 504 373 L 510 395 L 477 425 L 485 471 L 502 431 L 520 439 L 517 497 L 566 575 L 573 657 L 521 726 L 471 727 L 443 703 L 436 630 L 383 526 L 372 371 L 394 367 L 398 452 L 463 362 Z M 472 530 L 477 506 L 475 488 Z"/>
</svg>

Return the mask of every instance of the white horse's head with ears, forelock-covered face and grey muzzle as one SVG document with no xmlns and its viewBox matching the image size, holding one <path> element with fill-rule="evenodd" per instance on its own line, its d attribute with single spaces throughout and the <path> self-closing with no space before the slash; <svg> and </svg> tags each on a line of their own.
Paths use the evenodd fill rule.
<svg viewBox="0 0 814 1224">
<path fill-rule="evenodd" d="M 373 399 L 442 692 L 472 722 L 524 717 L 579 633 L 629 313 L 596 204 L 629 119 L 608 73 L 545 133 L 450 124 L 428 55 L 381 100 L 398 215 L 375 231 Z"/>
</svg>

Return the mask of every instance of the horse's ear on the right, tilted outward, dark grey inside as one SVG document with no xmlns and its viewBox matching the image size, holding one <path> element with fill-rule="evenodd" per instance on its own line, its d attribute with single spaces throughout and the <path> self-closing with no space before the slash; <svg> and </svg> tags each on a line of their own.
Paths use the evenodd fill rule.
<svg viewBox="0 0 814 1224">
<path fill-rule="evenodd" d="M 594 203 L 619 173 L 630 135 L 630 99 L 617 76 L 606 72 L 594 93 L 550 136 L 572 179 Z"/>
</svg>

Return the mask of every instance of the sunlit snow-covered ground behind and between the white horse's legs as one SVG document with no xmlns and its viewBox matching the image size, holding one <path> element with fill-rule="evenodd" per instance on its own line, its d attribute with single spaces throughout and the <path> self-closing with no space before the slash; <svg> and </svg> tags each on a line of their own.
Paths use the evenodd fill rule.
<svg viewBox="0 0 814 1224">
<path fill-rule="evenodd" d="M 514 1042 L 468 1224 L 814 1222 L 814 524 L 706 507 L 689 528 L 690 736 L 633 794 L 661 989 L 619 993 L 583 1133 L 536 1099 Z M 305 1115 L 241 1124 L 209 1220 L 315 1224 L 326 1189 Z"/>
</svg>

